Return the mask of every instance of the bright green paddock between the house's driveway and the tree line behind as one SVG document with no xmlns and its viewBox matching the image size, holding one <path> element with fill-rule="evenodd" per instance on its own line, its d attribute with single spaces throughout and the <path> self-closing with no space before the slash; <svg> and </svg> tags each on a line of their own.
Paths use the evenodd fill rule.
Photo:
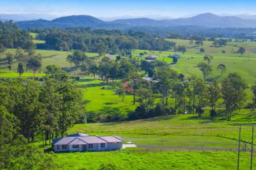
<svg viewBox="0 0 256 170">
<path fill-rule="evenodd" d="M 209 120 L 209 114 L 203 116 L 197 118 L 196 115 L 183 115 L 132 122 L 77 124 L 69 133 L 116 134 L 125 141 L 140 145 L 237 147 L 237 141 L 233 138 L 238 139 L 239 129 L 233 128 L 233 124 L 256 120 L 255 112 L 247 110 L 237 112 L 231 122 L 222 120 L 222 116 L 215 120 Z M 242 132 L 243 139 L 251 137 L 251 129 L 245 127 Z"/>
</svg>

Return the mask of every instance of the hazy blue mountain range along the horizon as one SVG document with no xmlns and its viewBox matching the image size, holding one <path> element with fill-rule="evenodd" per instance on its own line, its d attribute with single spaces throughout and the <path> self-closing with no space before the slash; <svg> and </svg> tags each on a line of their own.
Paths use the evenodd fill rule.
<svg viewBox="0 0 256 170">
<path fill-rule="evenodd" d="M 95 29 L 127 29 L 129 27 L 177 27 L 199 26 L 209 28 L 256 28 L 256 19 L 242 19 L 239 17 L 221 17 L 212 13 L 203 13 L 195 17 L 180 19 L 155 20 L 148 18 L 117 19 L 115 21 L 102 21 L 89 15 L 73 15 L 48 20 L 21 21 L 17 24 L 27 29 L 29 27 L 92 27 Z"/>
</svg>

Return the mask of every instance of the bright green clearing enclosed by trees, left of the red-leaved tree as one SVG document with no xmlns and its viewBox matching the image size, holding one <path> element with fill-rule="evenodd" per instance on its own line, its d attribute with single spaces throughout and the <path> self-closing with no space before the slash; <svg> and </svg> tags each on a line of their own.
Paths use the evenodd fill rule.
<svg viewBox="0 0 256 170">
<path fill-rule="evenodd" d="M 111 82 L 107 84 L 103 80 L 81 78 L 77 84 L 83 92 L 83 98 L 89 101 L 86 106 L 87 112 L 127 115 L 135 110 L 133 96 L 127 95 L 123 100 L 115 94 Z"/>
</svg>

